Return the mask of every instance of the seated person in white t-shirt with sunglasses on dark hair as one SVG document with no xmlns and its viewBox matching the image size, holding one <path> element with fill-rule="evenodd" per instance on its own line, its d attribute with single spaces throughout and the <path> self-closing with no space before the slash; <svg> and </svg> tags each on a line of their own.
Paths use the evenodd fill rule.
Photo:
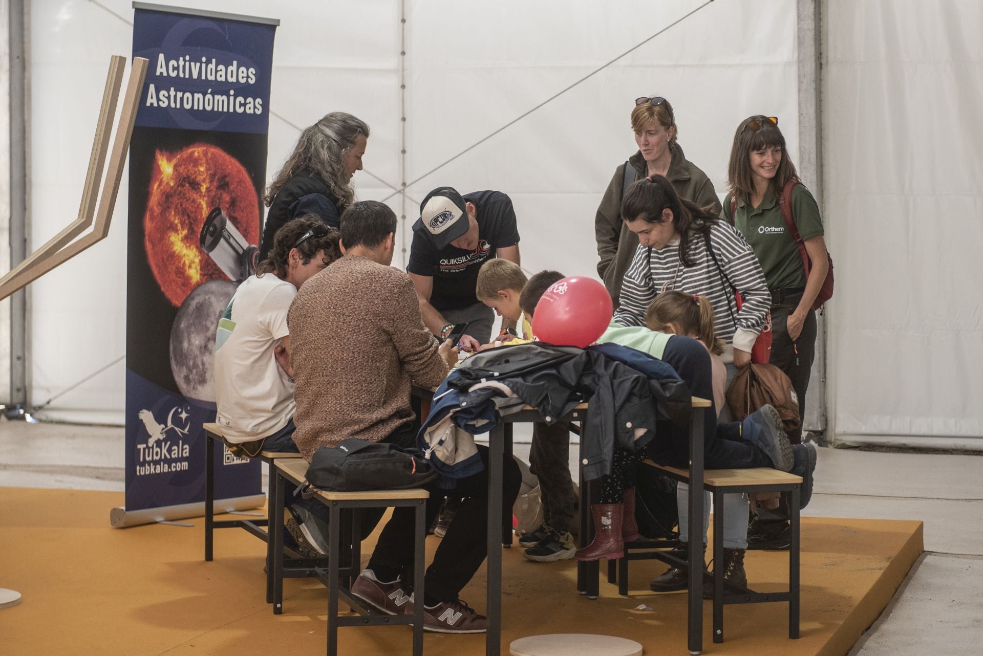
<svg viewBox="0 0 983 656">
<path fill-rule="evenodd" d="M 257 275 L 242 282 L 222 312 L 215 335 L 215 421 L 236 455 L 297 451 L 287 311 L 301 285 L 339 256 L 337 230 L 316 215 L 293 219 L 276 232 Z M 296 523 L 288 519 L 287 528 L 295 540 L 303 544 L 302 534 L 326 553 L 318 522 L 303 507 L 293 508 L 292 518 Z"/>
</svg>

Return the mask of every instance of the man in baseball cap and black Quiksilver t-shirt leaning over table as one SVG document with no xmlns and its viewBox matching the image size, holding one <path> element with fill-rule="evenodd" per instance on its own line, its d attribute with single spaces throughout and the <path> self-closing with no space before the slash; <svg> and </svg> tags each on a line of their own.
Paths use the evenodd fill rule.
<svg viewBox="0 0 983 656">
<path fill-rule="evenodd" d="M 406 271 L 413 278 L 424 324 L 445 337 L 455 323 L 468 323 L 461 346 L 475 351 L 492 340 L 494 313 L 478 300 L 482 264 L 501 257 L 519 263 L 519 231 L 512 200 L 501 191 L 463 196 L 450 187 L 431 191 L 413 225 Z M 504 320 L 502 328 L 514 321 Z"/>
</svg>

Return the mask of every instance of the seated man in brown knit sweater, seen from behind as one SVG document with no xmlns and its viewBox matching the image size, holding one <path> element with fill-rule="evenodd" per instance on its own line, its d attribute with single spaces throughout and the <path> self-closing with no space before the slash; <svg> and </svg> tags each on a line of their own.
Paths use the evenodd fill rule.
<svg viewBox="0 0 983 656">
<path fill-rule="evenodd" d="M 392 262 L 396 215 L 375 200 L 356 202 L 341 215 L 345 256 L 311 278 L 297 294 L 287 322 L 292 343 L 297 430 L 294 441 L 310 461 L 318 447 L 349 437 L 415 450 L 418 417 L 410 409 L 412 382 L 439 384 L 457 361 L 445 341 L 424 327 L 409 275 Z M 488 463 L 488 449 L 479 447 Z M 485 617 L 458 595 L 487 555 L 488 467 L 461 478 L 453 494 L 461 511 L 434 554 L 424 599 L 411 594 L 413 510 L 395 509 L 382 529 L 369 568 L 352 593 L 390 615 L 424 603 L 424 627 L 449 633 L 483 632 Z M 505 463 L 502 506 L 511 512 L 521 477 Z M 447 493 L 430 488 L 427 521 Z M 326 510 L 326 509 L 325 509 Z"/>
</svg>

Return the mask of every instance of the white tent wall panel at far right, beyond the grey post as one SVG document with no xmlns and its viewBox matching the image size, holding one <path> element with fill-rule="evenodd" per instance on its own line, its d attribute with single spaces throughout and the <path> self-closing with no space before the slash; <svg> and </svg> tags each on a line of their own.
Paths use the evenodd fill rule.
<svg viewBox="0 0 983 656">
<path fill-rule="evenodd" d="M 829 0 L 838 440 L 983 448 L 983 4 Z"/>
</svg>

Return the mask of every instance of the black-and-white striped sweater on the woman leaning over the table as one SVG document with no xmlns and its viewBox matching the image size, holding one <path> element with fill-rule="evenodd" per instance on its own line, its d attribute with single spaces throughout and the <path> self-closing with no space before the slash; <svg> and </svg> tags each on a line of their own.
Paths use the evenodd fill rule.
<svg viewBox="0 0 983 656">
<path fill-rule="evenodd" d="M 713 304 L 714 330 L 727 344 L 724 361 L 733 359 L 731 344 L 735 349 L 751 351 L 772 304 L 765 274 L 751 246 L 723 221 L 714 222 L 710 244 L 717 262 L 707 251 L 703 233 L 694 231 L 689 252 L 695 264 L 688 268 L 679 261 L 678 240 L 661 249 L 638 246 L 624 275 L 614 321 L 623 326 L 644 326 L 645 310 L 667 283 L 666 290 L 699 294 Z M 740 311 L 734 304 L 731 285 L 744 299 Z"/>
</svg>

